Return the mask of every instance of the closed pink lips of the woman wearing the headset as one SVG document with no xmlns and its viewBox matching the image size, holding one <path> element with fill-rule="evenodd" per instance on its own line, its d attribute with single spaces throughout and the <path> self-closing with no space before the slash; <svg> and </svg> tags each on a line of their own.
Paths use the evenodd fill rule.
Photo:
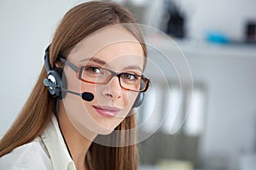
<svg viewBox="0 0 256 170">
<path fill-rule="evenodd" d="M 120 109 L 117 107 L 111 107 L 107 105 L 93 105 L 95 110 L 102 116 L 113 117 L 116 116 Z"/>
</svg>

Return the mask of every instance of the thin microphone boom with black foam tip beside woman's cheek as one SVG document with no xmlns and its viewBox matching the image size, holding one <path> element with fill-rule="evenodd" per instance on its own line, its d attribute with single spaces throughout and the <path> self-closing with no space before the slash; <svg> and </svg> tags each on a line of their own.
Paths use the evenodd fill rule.
<svg viewBox="0 0 256 170">
<path fill-rule="evenodd" d="M 61 88 L 60 85 L 57 85 L 57 84 L 49 81 L 49 79 L 47 79 L 47 78 L 44 79 L 44 86 L 46 86 L 47 88 Z M 82 94 L 79 94 L 77 92 L 73 92 L 73 91 L 65 89 L 65 88 L 61 88 L 61 90 L 64 92 L 67 92 L 69 94 L 79 95 L 85 101 L 92 101 L 94 99 L 94 95 L 91 94 L 90 92 L 83 92 Z"/>
</svg>

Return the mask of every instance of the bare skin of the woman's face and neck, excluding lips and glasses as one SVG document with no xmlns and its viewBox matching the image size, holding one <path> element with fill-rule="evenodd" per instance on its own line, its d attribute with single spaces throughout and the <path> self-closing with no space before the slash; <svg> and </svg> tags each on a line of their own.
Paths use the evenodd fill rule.
<svg viewBox="0 0 256 170">
<path fill-rule="evenodd" d="M 67 60 L 77 66 L 94 65 L 115 72 L 139 75 L 142 74 L 144 65 L 142 46 L 121 26 L 108 26 L 86 37 L 73 48 Z M 138 93 L 121 88 L 118 77 L 113 77 L 107 84 L 92 84 L 81 82 L 68 66 L 65 66 L 64 72 L 69 90 L 90 92 L 95 96 L 88 102 L 77 95 L 67 94 L 59 105 L 62 133 L 77 169 L 84 170 L 88 169 L 84 158 L 91 141 L 97 134 L 113 132 L 131 111 Z M 96 105 L 111 106 L 120 111 L 116 116 L 102 116 L 96 111 Z"/>
</svg>

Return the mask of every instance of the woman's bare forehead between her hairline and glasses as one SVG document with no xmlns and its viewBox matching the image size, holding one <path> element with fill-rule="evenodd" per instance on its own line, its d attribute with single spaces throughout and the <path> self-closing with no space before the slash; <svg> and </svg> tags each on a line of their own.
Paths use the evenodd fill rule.
<svg viewBox="0 0 256 170">
<path fill-rule="evenodd" d="M 68 59 L 79 64 L 80 60 L 101 58 L 107 63 L 125 59 L 125 62 L 143 61 L 143 48 L 130 31 L 123 26 L 107 26 L 79 42 Z M 132 63 L 132 62 L 131 62 Z M 143 62 L 142 62 L 143 65 Z"/>
</svg>

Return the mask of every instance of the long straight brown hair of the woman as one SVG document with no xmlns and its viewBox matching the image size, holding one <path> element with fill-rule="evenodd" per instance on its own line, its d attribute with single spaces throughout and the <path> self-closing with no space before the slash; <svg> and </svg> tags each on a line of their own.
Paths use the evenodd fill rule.
<svg viewBox="0 0 256 170">
<path fill-rule="evenodd" d="M 132 15 L 116 3 L 93 1 L 72 8 L 61 20 L 49 49 L 51 68 L 55 67 L 58 57 L 67 58 L 74 46 L 90 33 L 119 23 L 135 24 L 132 28 L 126 27 L 126 29 L 134 37 L 137 37 L 139 42 L 142 42 L 144 54 L 147 56 L 142 33 L 136 26 L 136 20 Z M 44 132 L 52 114 L 55 113 L 56 99 L 44 87 L 45 77 L 47 77 L 47 72 L 43 67 L 26 105 L 0 141 L 0 156 L 37 138 Z M 135 126 L 135 114 L 131 114 L 116 129 L 125 130 Z M 135 138 L 131 135 L 129 137 Z M 93 169 L 137 169 L 136 144 L 125 147 L 108 147 L 92 143 L 88 152 Z M 86 157 L 88 158 L 88 156 Z"/>
</svg>

